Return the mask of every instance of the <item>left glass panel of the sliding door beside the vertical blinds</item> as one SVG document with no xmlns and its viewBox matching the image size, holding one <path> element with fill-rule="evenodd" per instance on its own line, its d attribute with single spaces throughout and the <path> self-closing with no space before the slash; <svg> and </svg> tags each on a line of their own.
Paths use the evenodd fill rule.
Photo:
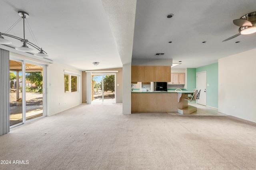
<svg viewBox="0 0 256 170">
<path fill-rule="evenodd" d="M 22 62 L 10 60 L 10 126 L 22 124 Z"/>
</svg>

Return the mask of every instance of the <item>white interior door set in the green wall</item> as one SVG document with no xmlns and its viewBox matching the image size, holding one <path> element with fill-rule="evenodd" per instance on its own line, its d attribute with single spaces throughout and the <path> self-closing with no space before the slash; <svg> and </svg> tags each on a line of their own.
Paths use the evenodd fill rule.
<svg viewBox="0 0 256 170">
<path fill-rule="evenodd" d="M 206 72 L 196 73 L 196 89 L 198 92 L 201 90 L 200 99 L 196 103 L 206 106 Z"/>
</svg>

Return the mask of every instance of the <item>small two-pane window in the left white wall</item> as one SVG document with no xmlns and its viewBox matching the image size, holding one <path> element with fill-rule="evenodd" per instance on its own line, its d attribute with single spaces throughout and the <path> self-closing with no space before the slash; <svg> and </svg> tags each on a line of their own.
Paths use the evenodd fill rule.
<svg viewBox="0 0 256 170">
<path fill-rule="evenodd" d="M 65 93 L 78 92 L 79 76 L 76 76 L 74 74 L 78 74 L 78 73 L 64 71 L 64 92 Z"/>
</svg>

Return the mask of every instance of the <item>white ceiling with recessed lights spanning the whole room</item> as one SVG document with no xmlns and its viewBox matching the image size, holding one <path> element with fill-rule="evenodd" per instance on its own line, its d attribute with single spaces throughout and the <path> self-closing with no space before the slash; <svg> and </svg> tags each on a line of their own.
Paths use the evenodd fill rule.
<svg viewBox="0 0 256 170">
<path fill-rule="evenodd" d="M 49 59 L 79 70 L 122 67 L 131 57 L 173 59 L 182 61 L 174 68 L 196 68 L 256 48 L 256 34 L 222 42 L 238 33 L 234 19 L 256 11 L 255 0 L 1 0 L 0 32 L 20 18 L 20 10 L 29 14 Z M 166 18 L 170 13 L 174 17 Z M 22 37 L 22 22 L 9 34 Z M 27 30 L 25 37 L 32 41 Z M 5 38 L 12 47 L 21 45 Z"/>
</svg>

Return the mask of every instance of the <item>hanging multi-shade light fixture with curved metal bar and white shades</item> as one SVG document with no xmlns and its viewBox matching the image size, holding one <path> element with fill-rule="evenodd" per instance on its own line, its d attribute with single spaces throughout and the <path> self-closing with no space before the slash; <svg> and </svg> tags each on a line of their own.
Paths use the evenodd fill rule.
<svg viewBox="0 0 256 170">
<path fill-rule="evenodd" d="M 34 54 L 36 57 L 48 57 L 47 53 L 42 48 L 38 47 L 38 45 L 35 45 L 34 43 L 31 43 L 30 41 L 25 39 L 25 22 L 26 22 L 26 25 L 28 25 L 28 29 L 29 29 L 30 34 L 32 33 L 31 34 L 32 38 L 36 41 L 36 38 L 34 37 L 34 34 L 33 34 L 32 30 L 30 28 L 30 25 L 28 24 L 28 21 L 25 20 L 29 16 L 28 13 L 23 12 L 23 11 L 19 11 L 18 14 L 19 14 L 19 16 L 21 16 L 21 18 L 18 21 L 16 21 L 9 29 L 7 29 L 7 31 L 5 33 L 0 32 L 0 44 L 8 45 L 8 44 L 12 43 L 11 41 L 4 39 L 4 37 L 2 36 L 2 35 L 4 35 L 4 36 L 7 36 L 7 37 L 18 39 L 18 40 L 20 40 L 20 42 L 22 42 L 22 45 L 20 47 L 15 48 L 16 50 L 23 51 L 23 52 L 32 52 L 32 51 L 34 51 L 34 49 L 37 49 L 39 51 L 39 53 Z M 23 38 L 7 34 L 22 19 L 23 19 Z M 34 49 L 29 48 L 27 46 L 27 44 L 30 45 L 31 47 L 33 47 Z"/>
</svg>

